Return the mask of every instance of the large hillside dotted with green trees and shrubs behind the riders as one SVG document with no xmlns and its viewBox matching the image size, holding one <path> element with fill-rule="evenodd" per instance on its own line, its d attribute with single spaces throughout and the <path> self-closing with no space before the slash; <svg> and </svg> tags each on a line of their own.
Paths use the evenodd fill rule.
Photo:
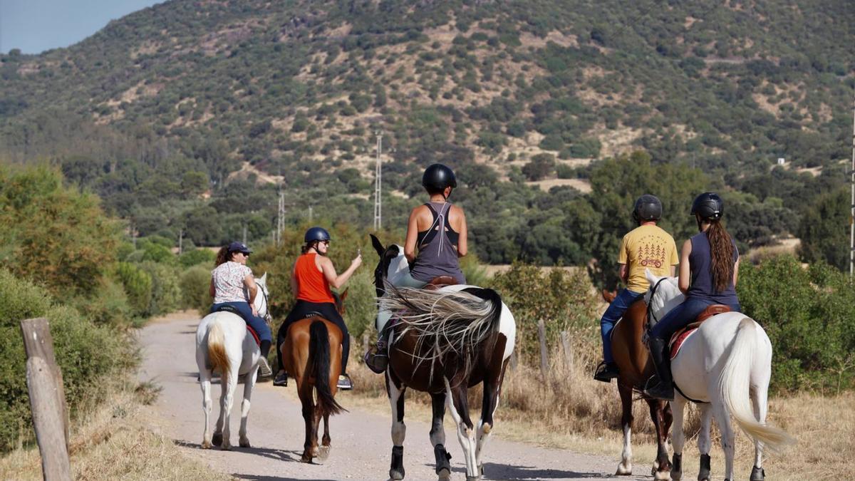
<svg viewBox="0 0 855 481">
<path fill-rule="evenodd" d="M 840 1 L 172 0 L 0 56 L 0 158 L 59 166 L 139 235 L 215 245 L 268 239 L 280 188 L 289 222 L 311 206 L 369 224 L 382 131 L 384 224 L 403 228 L 423 167 L 449 163 L 487 262 L 607 266 L 640 193 L 679 240 L 693 195 L 716 189 L 740 246 L 799 235 L 843 267 L 846 246 L 823 240 L 846 226 L 817 219 L 848 209 L 830 200 L 852 16 Z"/>
</svg>

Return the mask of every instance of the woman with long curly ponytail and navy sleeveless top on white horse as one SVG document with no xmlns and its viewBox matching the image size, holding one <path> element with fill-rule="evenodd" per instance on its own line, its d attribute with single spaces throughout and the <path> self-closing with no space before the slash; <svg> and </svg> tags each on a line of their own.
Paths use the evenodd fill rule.
<svg viewBox="0 0 855 481">
<path fill-rule="evenodd" d="M 665 314 L 650 332 L 650 353 L 657 375 L 647 382 L 646 395 L 674 400 L 668 342 L 677 330 L 713 304 L 740 311 L 736 297 L 740 252 L 721 223 L 723 213 L 724 203 L 717 193 L 702 193 L 692 203 L 692 215 L 700 232 L 683 243 L 681 250 L 678 285 L 686 300 Z"/>
</svg>

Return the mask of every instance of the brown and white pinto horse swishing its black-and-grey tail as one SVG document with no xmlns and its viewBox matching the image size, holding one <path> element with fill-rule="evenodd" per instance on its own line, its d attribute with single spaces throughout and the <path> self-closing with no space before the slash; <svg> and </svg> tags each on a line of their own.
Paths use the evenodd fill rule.
<svg viewBox="0 0 855 481">
<path fill-rule="evenodd" d="M 483 449 L 494 426 L 504 370 L 514 349 L 514 317 L 492 289 L 392 287 L 410 269 L 404 249 L 396 245 L 385 248 L 374 235 L 371 241 L 380 255 L 374 270 L 380 310 L 398 312 L 398 319 L 390 320 L 394 324 L 386 328 L 392 330 L 386 369 L 386 393 L 392 405 L 389 477 L 404 478 L 404 394 L 410 388 L 431 396 L 430 440 L 439 479 L 451 477 L 451 454 L 445 450 L 443 428 L 446 408 L 457 425 L 466 479 L 481 479 Z M 476 426 L 469 418 L 467 391 L 479 383 L 483 383 L 483 398 Z"/>
</svg>

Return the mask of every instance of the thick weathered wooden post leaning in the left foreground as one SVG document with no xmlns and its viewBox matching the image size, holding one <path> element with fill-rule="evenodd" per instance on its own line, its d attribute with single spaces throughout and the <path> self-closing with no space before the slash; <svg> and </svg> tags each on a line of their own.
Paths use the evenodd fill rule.
<svg viewBox="0 0 855 481">
<path fill-rule="evenodd" d="M 27 389 L 32 425 L 42 455 L 45 481 L 70 481 L 68 461 L 68 408 L 62 389 L 62 372 L 56 365 L 48 320 L 21 321 L 27 352 Z"/>
</svg>

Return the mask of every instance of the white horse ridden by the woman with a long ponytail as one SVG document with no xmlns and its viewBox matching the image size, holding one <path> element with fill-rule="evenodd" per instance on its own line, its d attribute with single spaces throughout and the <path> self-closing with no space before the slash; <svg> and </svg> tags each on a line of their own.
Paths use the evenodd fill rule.
<svg viewBox="0 0 855 481">
<path fill-rule="evenodd" d="M 645 300 L 650 305 L 652 322 L 663 318 L 684 296 L 677 287 L 676 277 L 653 276 L 646 272 L 651 289 Z M 661 280 L 661 282 L 660 282 Z M 763 448 L 779 448 L 792 442 L 786 432 L 766 425 L 766 400 L 769 377 L 772 374 L 772 344 L 769 336 L 741 312 L 724 312 L 708 318 L 700 328 L 687 337 L 671 361 L 674 377 L 674 460 L 671 478 L 682 478 L 682 451 L 686 442 L 683 433 L 683 409 L 687 401 L 699 403 L 702 427 L 698 436 L 700 451 L 699 481 L 710 479 L 710 423 L 715 416 L 722 432 L 725 455 L 725 480 L 734 478 L 734 428 L 736 424 L 754 440 L 754 467 L 751 481 L 763 481 Z"/>
</svg>

